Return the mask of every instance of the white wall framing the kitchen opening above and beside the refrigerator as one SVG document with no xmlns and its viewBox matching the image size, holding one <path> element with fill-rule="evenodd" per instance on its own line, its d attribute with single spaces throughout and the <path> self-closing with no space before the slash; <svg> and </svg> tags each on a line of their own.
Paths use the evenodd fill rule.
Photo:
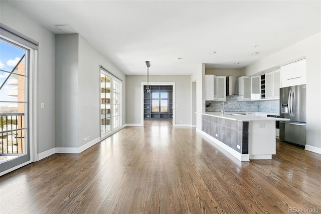
<svg viewBox="0 0 321 214">
<path fill-rule="evenodd" d="M 244 68 L 254 75 L 306 57 L 306 149 L 321 153 L 321 33 L 308 37 Z"/>
</svg>

